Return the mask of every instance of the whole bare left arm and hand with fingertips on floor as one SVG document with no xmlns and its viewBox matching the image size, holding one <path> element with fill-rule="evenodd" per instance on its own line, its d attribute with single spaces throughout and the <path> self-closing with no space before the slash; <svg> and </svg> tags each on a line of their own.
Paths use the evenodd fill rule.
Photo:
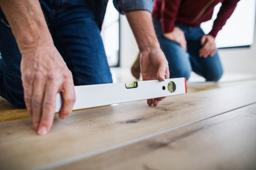
<svg viewBox="0 0 256 170">
<path fill-rule="evenodd" d="M 62 92 L 64 119 L 72 111 L 75 91 L 71 71 L 56 50 L 38 0 L 0 0 L 22 55 L 20 70 L 24 99 L 39 134 L 49 132 L 56 94 Z"/>
</svg>

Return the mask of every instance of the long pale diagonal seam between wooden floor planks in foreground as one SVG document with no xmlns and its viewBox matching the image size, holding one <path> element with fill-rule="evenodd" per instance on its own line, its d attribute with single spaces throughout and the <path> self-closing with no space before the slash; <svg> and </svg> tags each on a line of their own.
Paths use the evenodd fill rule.
<svg viewBox="0 0 256 170">
<path fill-rule="evenodd" d="M 74 156 L 74 157 L 71 157 L 71 158 L 68 158 L 68 159 L 63 159 L 61 161 L 56 161 L 56 162 L 53 162 L 53 163 L 50 163 L 50 164 L 43 165 L 41 167 L 35 167 L 35 168 L 32 168 L 31 170 L 49 170 L 49 169 L 52 169 L 52 168 L 55 168 L 55 167 L 59 167 L 59 166 L 64 165 L 64 164 L 69 164 L 69 163 L 72 163 L 72 162 L 75 162 L 75 161 L 79 161 L 79 160 L 82 160 L 82 159 L 87 159 L 89 157 L 96 156 L 96 155 L 99 155 L 101 153 L 105 153 L 105 152 L 108 152 L 108 151 L 111 151 L 111 150 L 115 150 L 115 149 L 118 149 L 120 147 L 125 147 L 127 145 L 134 144 L 136 142 L 141 142 L 143 140 L 146 140 L 146 139 L 149 139 L 149 138 L 161 135 L 163 133 L 167 133 L 167 132 L 170 132 L 172 130 L 177 130 L 177 129 L 181 128 L 181 127 L 192 125 L 194 123 L 201 122 L 203 120 L 206 120 L 206 119 L 209 119 L 209 118 L 212 118 L 212 117 L 224 114 L 224 113 L 228 113 L 230 111 L 234 111 L 234 110 L 237 110 L 237 109 L 240 109 L 240 108 L 244 108 L 246 106 L 253 105 L 253 104 L 256 104 L 256 102 L 253 102 L 253 103 L 250 103 L 250 104 L 247 104 L 247 105 L 243 105 L 243 106 L 240 106 L 240 107 L 228 110 L 228 111 L 224 111 L 224 112 L 221 112 L 221 113 L 218 113 L 218 114 L 206 117 L 204 119 L 200 119 L 200 120 L 197 120 L 197 121 L 194 121 L 194 122 L 190 122 L 190 123 L 187 123 L 187 124 L 184 124 L 184 125 L 173 127 L 171 129 L 163 130 L 161 132 L 157 132 L 157 133 L 154 133 L 154 134 L 151 134 L 151 135 L 148 135 L 148 136 L 144 136 L 144 137 L 141 137 L 141 138 L 138 138 L 138 139 L 134 139 L 134 140 L 131 140 L 131 141 L 128 141 L 128 142 L 124 142 L 124 143 L 121 143 L 121 144 L 116 144 L 116 145 L 113 145 L 111 147 L 106 147 L 106 148 L 103 148 L 103 149 L 100 149 L 100 150 L 96 150 L 96 151 L 93 151 L 93 152 L 90 152 L 90 153 L 85 153 L 85 154 L 82 154 L 82 155 L 79 155 L 79 156 Z"/>
</svg>

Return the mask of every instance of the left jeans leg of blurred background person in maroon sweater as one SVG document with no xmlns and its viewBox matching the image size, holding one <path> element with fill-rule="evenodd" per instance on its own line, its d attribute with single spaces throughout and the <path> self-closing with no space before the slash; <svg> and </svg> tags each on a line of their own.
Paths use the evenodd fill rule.
<svg viewBox="0 0 256 170">
<path fill-rule="evenodd" d="M 190 72 L 192 71 L 189 54 L 177 42 L 168 40 L 163 36 L 159 20 L 153 17 L 153 23 L 160 48 L 169 63 L 170 78 L 186 77 L 186 79 L 189 79 Z"/>
</svg>

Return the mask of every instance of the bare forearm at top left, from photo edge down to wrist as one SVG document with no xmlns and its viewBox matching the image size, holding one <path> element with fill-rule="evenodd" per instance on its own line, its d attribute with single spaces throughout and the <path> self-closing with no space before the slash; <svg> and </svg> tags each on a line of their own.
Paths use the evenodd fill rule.
<svg viewBox="0 0 256 170">
<path fill-rule="evenodd" d="M 52 43 L 38 0 L 0 0 L 0 6 L 20 50 L 35 43 Z"/>
</svg>

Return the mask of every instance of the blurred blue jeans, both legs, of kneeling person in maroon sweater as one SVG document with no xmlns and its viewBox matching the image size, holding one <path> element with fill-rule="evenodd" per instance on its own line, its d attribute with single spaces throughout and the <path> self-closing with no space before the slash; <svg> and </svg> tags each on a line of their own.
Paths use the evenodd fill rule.
<svg viewBox="0 0 256 170">
<path fill-rule="evenodd" d="M 189 79 L 191 71 L 204 77 L 206 81 L 218 81 L 221 78 L 223 69 L 217 52 L 213 57 L 199 57 L 198 51 L 202 48 L 200 40 L 204 35 L 200 26 L 190 27 L 175 24 L 184 31 L 187 41 L 187 51 L 185 51 L 177 42 L 163 36 L 159 20 L 153 17 L 153 23 L 160 47 L 169 62 L 170 78 L 186 77 Z"/>
</svg>

